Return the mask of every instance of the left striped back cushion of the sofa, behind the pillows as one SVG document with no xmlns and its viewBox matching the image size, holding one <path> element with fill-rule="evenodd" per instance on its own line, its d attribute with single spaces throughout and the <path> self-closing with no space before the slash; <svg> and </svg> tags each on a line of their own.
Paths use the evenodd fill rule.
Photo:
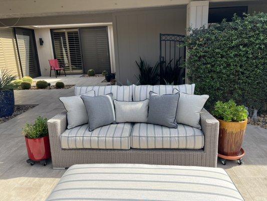
<svg viewBox="0 0 267 201">
<path fill-rule="evenodd" d="M 75 95 L 80 95 L 90 90 L 95 90 L 96 95 L 106 95 L 112 92 L 114 99 L 120 101 L 133 101 L 132 86 L 75 86 Z"/>
</svg>

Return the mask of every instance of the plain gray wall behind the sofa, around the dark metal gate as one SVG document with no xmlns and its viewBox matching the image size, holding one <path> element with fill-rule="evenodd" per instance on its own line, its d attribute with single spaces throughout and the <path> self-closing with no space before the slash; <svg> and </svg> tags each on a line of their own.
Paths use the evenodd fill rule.
<svg viewBox="0 0 267 201">
<path fill-rule="evenodd" d="M 186 34 L 186 9 L 116 13 L 113 16 L 117 79 L 136 82 L 135 60 L 151 65 L 159 60 L 159 34 Z"/>
</svg>

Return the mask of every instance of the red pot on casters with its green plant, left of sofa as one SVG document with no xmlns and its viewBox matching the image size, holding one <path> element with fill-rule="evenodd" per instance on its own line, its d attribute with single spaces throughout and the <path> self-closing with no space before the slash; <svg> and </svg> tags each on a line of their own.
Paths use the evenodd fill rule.
<svg viewBox="0 0 267 201">
<path fill-rule="evenodd" d="M 34 124 L 26 124 L 23 134 L 30 158 L 27 163 L 34 165 L 35 161 L 40 161 L 45 166 L 51 157 L 47 118 L 38 117 Z"/>
</svg>

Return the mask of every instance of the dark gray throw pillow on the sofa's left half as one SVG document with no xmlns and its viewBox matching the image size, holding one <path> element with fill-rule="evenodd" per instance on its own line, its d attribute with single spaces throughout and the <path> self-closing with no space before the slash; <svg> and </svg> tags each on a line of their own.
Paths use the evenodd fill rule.
<svg viewBox="0 0 267 201">
<path fill-rule="evenodd" d="M 81 98 L 87 111 L 89 131 L 115 122 L 112 93 L 94 97 L 81 95 Z"/>
</svg>

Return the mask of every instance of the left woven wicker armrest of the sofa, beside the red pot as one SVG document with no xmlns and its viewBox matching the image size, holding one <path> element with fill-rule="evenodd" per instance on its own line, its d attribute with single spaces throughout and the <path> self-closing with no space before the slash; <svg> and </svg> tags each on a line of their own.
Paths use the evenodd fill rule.
<svg viewBox="0 0 267 201">
<path fill-rule="evenodd" d="M 53 166 L 56 161 L 57 155 L 61 150 L 60 134 L 67 129 L 67 112 L 63 111 L 55 117 L 47 121 L 50 150 L 52 156 Z"/>
</svg>

